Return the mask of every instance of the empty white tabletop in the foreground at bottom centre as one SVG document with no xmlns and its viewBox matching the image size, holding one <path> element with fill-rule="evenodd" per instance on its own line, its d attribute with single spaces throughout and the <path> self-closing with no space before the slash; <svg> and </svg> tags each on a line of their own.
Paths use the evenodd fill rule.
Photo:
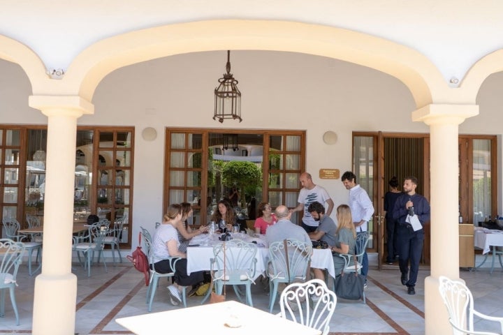
<svg viewBox="0 0 503 335">
<path fill-rule="evenodd" d="M 115 322 L 137 335 L 162 334 L 168 331 L 174 332 L 175 329 L 181 329 L 187 334 L 205 335 L 257 335 L 276 332 L 289 335 L 321 334 L 318 329 L 238 301 L 224 301 L 218 304 L 117 318 Z"/>
</svg>

